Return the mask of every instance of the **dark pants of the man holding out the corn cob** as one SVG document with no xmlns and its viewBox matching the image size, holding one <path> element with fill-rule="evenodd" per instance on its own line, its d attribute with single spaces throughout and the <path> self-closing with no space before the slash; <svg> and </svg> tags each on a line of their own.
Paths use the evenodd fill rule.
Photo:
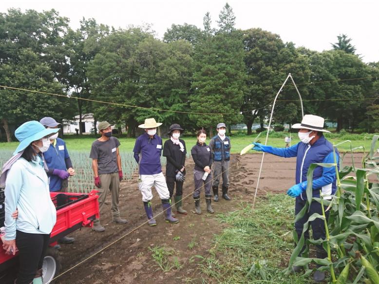
<svg viewBox="0 0 379 284">
<path fill-rule="evenodd" d="M 296 203 L 295 203 L 295 215 L 297 215 L 305 206 L 306 200 L 302 200 L 300 197 L 296 198 Z M 324 206 L 324 209 L 326 207 Z M 314 214 L 318 213 L 322 215 L 322 208 L 321 204 L 317 201 L 312 201 L 309 212 L 305 212 L 303 218 L 301 218 L 299 221 L 295 223 L 295 230 L 298 234 L 298 239 L 300 240 L 300 237 L 303 232 L 303 226 L 304 224 L 308 221 L 309 217 Z M 329 212 L 325 212 L 326 220 L 328 220 Z M 317 218 L 313 220 L 311 223 L 312 226 L 312 232 L 313 232 L 313 239 L 318 240 L 318 239 L 325 239 L 326 237 L 326 231 L 325 231 L 325 225 L 324 221 L 320 218 Z M 304 232 L 304 240 L 309 239 L 309 227 L 308 230 Z M 322 248 L 322 245 L 318 245 L 317 248 L 321 251 L 324 251 Z"/>
</svg>

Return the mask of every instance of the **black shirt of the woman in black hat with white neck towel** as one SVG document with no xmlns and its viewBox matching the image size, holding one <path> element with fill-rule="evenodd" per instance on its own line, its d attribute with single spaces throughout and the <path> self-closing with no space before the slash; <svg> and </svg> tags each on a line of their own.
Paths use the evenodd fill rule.
<svg viewBox="0 0 379 284">
<path fill-rule="evenodd" d="M 167 159 L 166 177 L 175 177 L 177 172 L 183 168 L 186 161 L 186 143 L 181 139 L 179 141 L 184 146 L 183 152 L 180 150 L 180 146 L 174 144 L 171 139 L 167 140 L 163 145 L 163 156 Z"/>
</svg>

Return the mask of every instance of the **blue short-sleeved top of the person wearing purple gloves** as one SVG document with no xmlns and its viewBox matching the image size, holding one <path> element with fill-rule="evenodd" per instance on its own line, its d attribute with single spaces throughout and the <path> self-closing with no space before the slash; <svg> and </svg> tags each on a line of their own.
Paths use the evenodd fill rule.
<svg viewBox="0 0 379 284">
<path fill-rule="evenodd" d="M 65 159 L 70 158 L 67 152 L 66 143 L 60 138 L 57 138 L 56 141 L 57 143 L 55 145 L 53 143 L 50 144 L 49 149 L 43 153 L 43 157 L 46 160 L 48 168 L 66 171 L 67 168 Z M 55 175 L 48 176 L 50 179 L 50 191 L 54 192 L 61 190 L 62 179 Z"/>
</svg>

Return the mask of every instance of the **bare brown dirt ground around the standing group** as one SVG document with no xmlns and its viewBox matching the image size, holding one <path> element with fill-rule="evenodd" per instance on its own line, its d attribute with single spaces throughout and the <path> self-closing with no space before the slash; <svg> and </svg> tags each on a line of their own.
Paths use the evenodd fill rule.
<svg viewBox="0 0 379 284">
<path fill-rule="evenodd" d="M 356 154 L 356 160 L 361 154 Z M 358 158 L 359 157 L 359 158 Z M 232 201 L 227 202 L 220 198 L 219 202 L 213 202 L 216 213 L 225 213 L 238 208 L 241 201 L 252 202 L 256 179 L 262 155 L 245 155 L 240 157 L 233 155 L 230 168 L 230 189 Z M 295 158 L 284 159 L 272 155 L 265 156 L 265 163 L 260 180 L 258 195 L 266 193 L 285 193 L 294 184 Z M 347 160 L 346 160 L 347 161 Z M 187 161 L 187 181 L 184 186 L 184 195 L 193 191 L 192 169 L 193 162 Z M 162 211 L 161 202 L 156 192 L 152 206 L 154 214 Z M 143 225 L 130 235 L 115 243 L 111 247 L 97 254 L 92 259 L 57 279 L 58 284 L 176 284 L 201 283 L 197 270 L 197 258 L 195 255 L 207 256 L 207 249 L 212 245 L 214 234 L 219 233 L 225 225 L 220 224 L 214 214 L 205 210 L 204 192 L 201 195 L 201 207 L 203 214 L 191 213 L 194 204 L 192 196 L 183 201 L 184 209 L 188 215 L 177 216 L 180 223 L 171 225 L 163 220 L 163 215 L 156 218 L 157 226 Z M 120 211 L 122 217 L 129 220 L 127 225 L 115 225 L 111 223 L 110 205 L 106 205 L 102 212 L 102 224 L 106 231 L 96 233 L 88 228 L 76 231 L 70 236 L 76 238 L 73 245 L 62 245 L 62 270 L 86 259 L 114 240 L 132 231 L 146 221 L 142 204 L 142 197 L 138 191 L 136 178 L 133 181 L 123 181 L 120 193 Z M 177 214 L 178 215 L 178 214 Z M 190 243 L 194 244 L 190 248 Z M 164 246 L 172 248 L 177 257 L 181 269 L 171 269 L 162 272 L 152 259 L 149 248 Z M 171 263 L 174 259 L 171 257 Z"/>
</svg>

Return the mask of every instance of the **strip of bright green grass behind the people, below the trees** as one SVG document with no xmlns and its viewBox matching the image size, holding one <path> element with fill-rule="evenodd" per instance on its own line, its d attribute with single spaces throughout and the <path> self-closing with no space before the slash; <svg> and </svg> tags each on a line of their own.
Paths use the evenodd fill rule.
<svg viewBox="0 0 379 284">
<path fill-rule="evenodd" d="M 270 134 L 270 136 L 268 137 L 267 144 L 272 145 L 274 147 L 284 147 L 285 135 L 288 135 L 288 133 L 286 133 L 286 132 L 274 132 L 274 133 Z M 232 153 L 240 153 L 241 150 L 245 146 L 247 146 L 249 143 L 251 143 L 256 136 L 257 136 L 257 134 L 253 134 L 251 136 L 246 136 L 246 135 L 232 136 L 230 138 L 231 139 L 231 145 L 232 145 L 231 152 Z M 338 136 L 337 134 L 334 134 L 334 133 L 325 135 L 325 137 L 330 142 L 335 143 L 335 144 L 342 142 L 342 141 L 345 141 L 345 140 L 352 140 L 353 148 L 362 145 L 366 149 L 369 149 L 370 145 L 371 145 L 371 139 L 366 138 L 366 140 L 365 140 L 365 136 L 367 137 L 367 134 L 364 134 L 364 133 L 363 134 L 348 134 L 348 135 L 341 135 L 341 136 Z M 370 135 L 370 137 L 372 137 L 372 135 Z M 83 136 L 83 137 L 77 138 L 77 136 L 66 135 L 64 137 L 64 140 L 67 144 L 67 149 L 69 151 L 85 151 L 88 153 L 90 152 L 91 144 L 92 144 L 92 142 L 95 141 L 95 139 L 96 139 L 95 136 Z M 186 142 L 188 151 L 190 151 L 192 146 L 196 143 L 196 137 L 185 136 L 183 139 Z M 166 140 L 167 139 L 164 139 L 164 141 L 166 141 Z M 125 138 L 123 136 L 123 137 L 119 138 L 119 141 L 121 142 L 121 145 L 120 145 L 121 151 L 126 151 L 126 152 L 132 152 L 133 151 L 134 142 L 135 142 L 134 138 Z M 261 137 L 259 138 L 259 141 L 261 143 L 265 142 L 265 135 L 264 134 L 261 135 Z M 207 142 L 209 142 L 209 137 L 207 139 Z M 299 139 L 297 137 L 297 134 L 294 133 L 294 134 L 292 134 L 291 144 L 294 144 L 297 142 L 299 142 Z M 10 142 L 10 143 L 0 142 L 0 150 L 12 150 L 13 151 L 16 149 L 18 144 L 19 144 L 18 142 Z M 350 146 L 348 144 L 343 144 L 339 147 L 339 150 L 341 152 L 348 151 L 349 147 Z M 251 151 L 251 153 L 252 152 L 253 151 Z"/>
</svg>

